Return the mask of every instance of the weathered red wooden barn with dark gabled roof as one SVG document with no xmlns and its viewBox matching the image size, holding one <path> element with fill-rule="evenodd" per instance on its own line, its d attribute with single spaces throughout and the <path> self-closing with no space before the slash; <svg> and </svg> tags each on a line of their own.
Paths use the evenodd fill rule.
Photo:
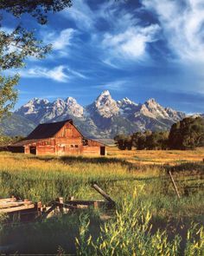
<svg viewBox="0 0 204 256">
<path fill-rule="evenodd" d="M 23 141 L 9 146 L 24 154 L 95 154 L 105 155 L 105 145 L 86 139 L 72 120 L 39 124 Z"/>
</svg>

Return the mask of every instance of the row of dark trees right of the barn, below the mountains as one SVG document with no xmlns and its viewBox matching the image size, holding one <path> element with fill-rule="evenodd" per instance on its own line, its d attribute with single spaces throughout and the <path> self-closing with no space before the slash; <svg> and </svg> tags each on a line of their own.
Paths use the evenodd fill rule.
<svg viewBox="0 0 204 256">
<path fill-rule="evenodd" d="M 117 135 L 119 149 L 194 149 L 204 147 L 204 119 L 187 117 L 174 123 L 168 131 L 146 130 L 133 135 Z"/>
</svg>

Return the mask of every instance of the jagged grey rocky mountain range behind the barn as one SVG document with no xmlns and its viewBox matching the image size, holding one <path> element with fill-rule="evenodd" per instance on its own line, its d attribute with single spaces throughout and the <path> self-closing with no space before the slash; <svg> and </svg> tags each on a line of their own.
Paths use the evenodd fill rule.
<svg viewBox="0 0 204 256">
<path fill-rule="evenodd" d="M 28 135 L 41 122 L 73 119 L 87 137 L 113 138 L 119 133 L 131 134 L 146 129 L 168 130 L 185 116 L 183 112 L 164 108 L 155 99 L 144 103 L 132 102 L 128 98 L 115 101 L 105 90 L 86 107 L 73 97 L 54 102 L 34 98 L 17 109 L 10 119 L 3 117 L 0 127 L 6 135 Z"/>
</svg>

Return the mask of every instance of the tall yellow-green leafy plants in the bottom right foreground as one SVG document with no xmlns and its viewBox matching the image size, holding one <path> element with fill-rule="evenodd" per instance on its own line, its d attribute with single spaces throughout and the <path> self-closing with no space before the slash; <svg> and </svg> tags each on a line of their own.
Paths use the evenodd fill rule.
<svg viewBox="0 0 204 256">
<path fill-rule="evenodd" d="M 80 218 L 80 237 L 76 238 L 78 255 L 203 255 L 203 228 L 193 225 L 188 230 L 187 242 L 181 249 L 182 238 L 175 235 L 169 240 L 166 231 L 151 231 L 150 205 L 138 205 L 136 194 L 124 200 L 116 216 L 100 227 L 99 238 L 89 233 L 87 215 Z"/>
</svg>

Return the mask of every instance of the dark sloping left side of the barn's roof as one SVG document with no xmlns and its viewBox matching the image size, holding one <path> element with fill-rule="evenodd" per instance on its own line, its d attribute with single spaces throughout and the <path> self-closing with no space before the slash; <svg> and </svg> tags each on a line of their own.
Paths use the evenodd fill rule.
<svg viewBox="0 0 204 256">
<path fill-rule="evenodd" d="M 66 124 L 66 122 L 73 123 L 72 119 L 66 121 L 57 121 L 50 123 L 41 123 L 35 130 L 25 140 L 35 140 L 35 139 L 46 139 L 51 138 L 56 135 L 57 132 Z"/>
</svg>

